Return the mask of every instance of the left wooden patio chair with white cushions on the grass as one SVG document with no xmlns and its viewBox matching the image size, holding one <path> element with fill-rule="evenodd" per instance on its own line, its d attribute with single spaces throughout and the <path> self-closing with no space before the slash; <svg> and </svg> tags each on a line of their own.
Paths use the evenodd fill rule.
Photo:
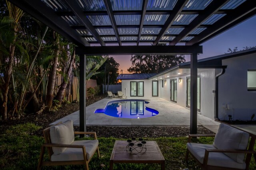
<svg viewBox="0 0 256 170">
<path fill-rule="evenodd" d="M 78 165 L 84 164 L 89 170 L 88 163 L 97 151 L 100 156 L 98 140 L 95 132 L 74 132 L 72 120 L 60 122 L 43 130 L 45 143 L 41 147 L 41 153 L 37 169 L 42 166 Z M 94 135 L 94 140 L 74 141 L 74 134 Z M 45 148 L 48 150 L 50 161 L 43 161 Z"/>
</svg>

